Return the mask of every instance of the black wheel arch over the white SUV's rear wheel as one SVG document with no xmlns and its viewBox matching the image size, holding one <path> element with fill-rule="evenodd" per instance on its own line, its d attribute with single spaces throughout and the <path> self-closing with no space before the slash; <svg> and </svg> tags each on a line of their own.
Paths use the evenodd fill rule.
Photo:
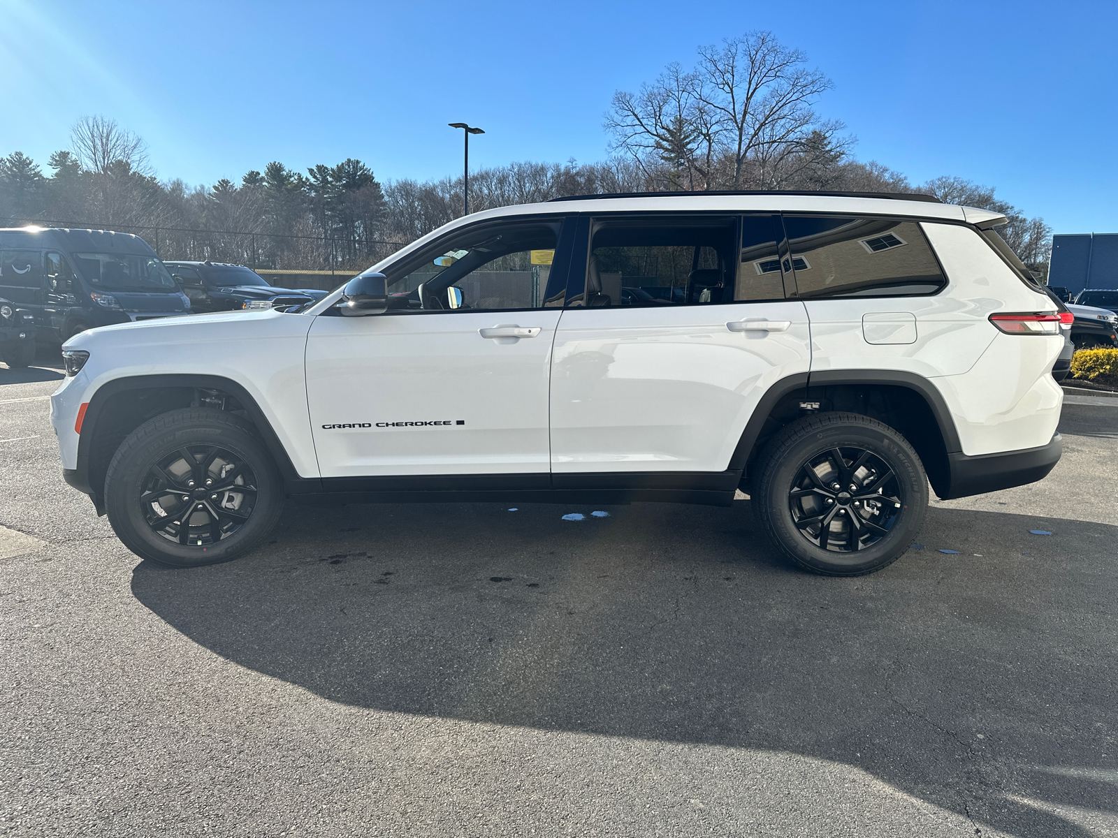
<svg viewBox="0 0 1118 838">
<path fill-rule="evenodd" d="M 936 385 L 899 370 L 825 370 L 781 379 L 758 402 L 730 460 L 745 477 L 768 439 L 804 412 L 800 402 L 819 410 L 870 416 L 889 425 L 916 448 L 936 494 L 949 492 L 948 455 L 961 450 L 951 412 Z"/>
</svg>

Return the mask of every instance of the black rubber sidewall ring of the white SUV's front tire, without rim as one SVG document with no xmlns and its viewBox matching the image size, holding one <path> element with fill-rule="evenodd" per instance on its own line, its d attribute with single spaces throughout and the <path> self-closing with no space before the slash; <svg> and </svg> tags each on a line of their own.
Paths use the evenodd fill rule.
<svg viewBox="0 0 1118 838">
<path fill-rule="evenodd" d="M 151 528 L 140 506 L 140 486 L 149 469 L 188 445 L 226 448 L 244 458 L 256 476 L 253 514 L 236 533 L 217 544 L 191 546 L 168 541 Z M 121 541 L 143 559 L 177 568 L 217 564 L 241 555 L 271 531 L 282 503 L 278 474 L 264 446 L 252 435 L 228 426 L 196 425 L 154 436 L 129 451 L 105 477 L 105 507 Z"/>
</svg>

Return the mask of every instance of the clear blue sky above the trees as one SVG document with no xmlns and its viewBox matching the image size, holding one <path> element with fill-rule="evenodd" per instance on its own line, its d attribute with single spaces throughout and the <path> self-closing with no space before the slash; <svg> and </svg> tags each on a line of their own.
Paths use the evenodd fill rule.
<svg viewBox="0 0 1118 838">
<path fill-rule="evenodd" d="M 160 178 L 363 160 L 381 180 L 607 155 L 603 114 L 700 44 L 768 29 L 835 84 L 854 153 L 958 174 L 1057 232 L 1118 231 L 1118 3 L 0 0 L 0 154 L 83 114 Z"/>
</svg>

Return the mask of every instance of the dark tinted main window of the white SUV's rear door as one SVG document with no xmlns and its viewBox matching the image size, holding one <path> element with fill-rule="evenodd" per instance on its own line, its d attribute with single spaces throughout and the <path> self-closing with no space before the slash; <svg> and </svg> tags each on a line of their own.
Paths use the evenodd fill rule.
<svg viewBox="0 0 1118 838">
<path fill-rule="evenodd" d="M 586 289 L 574 306 L 728 303 L 738 264 L 736 218 L 597 218 Z"/>
</svg>

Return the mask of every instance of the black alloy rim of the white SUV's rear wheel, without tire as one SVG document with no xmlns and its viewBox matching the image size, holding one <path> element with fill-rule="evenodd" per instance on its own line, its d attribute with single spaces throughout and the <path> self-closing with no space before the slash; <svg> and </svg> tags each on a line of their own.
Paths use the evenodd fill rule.
<svg viewBox="0 0 1118 838">
<path fill-rule="evenodd" d="M 788 492 L 800 535 L 839 553 L 864 550 L 889 535 L 903 505 L 904 493 L 889 465 L 854 446 L 808 458 Z"/>
</svg>

